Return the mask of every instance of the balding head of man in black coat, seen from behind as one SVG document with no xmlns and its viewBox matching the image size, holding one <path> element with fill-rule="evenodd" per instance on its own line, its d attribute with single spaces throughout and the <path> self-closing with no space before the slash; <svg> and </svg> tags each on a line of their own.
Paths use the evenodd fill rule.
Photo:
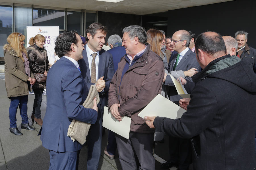
<svg viewBox="0 0 256 170">
<path fill-rule="evenodd" d="M 198 62 L 204 69 L 214 59 L 226 55 L 226 46 L 220 34 L 205 32 L 197 37 L 195 51 Z"/>
</svg>

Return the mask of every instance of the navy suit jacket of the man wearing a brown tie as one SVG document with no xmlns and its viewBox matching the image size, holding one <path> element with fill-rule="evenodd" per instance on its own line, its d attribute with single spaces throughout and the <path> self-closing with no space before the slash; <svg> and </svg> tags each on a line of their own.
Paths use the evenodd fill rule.
<svg viewBox="0 0 256 170">
<path fill-rule="evenodd" d="M 84 48 L 83 52 L 83 59 L 78 60 L 78 64 L 81 70 L 82 77 L 86 83 L 86 86 L 89 88 L 91 85 L 94 85 L 91 81 L 90 76 L 90 67 L 88 65 L 88 56 L 86 52 L 86 48 Z M 106 82 L 106 86 L 104 88 L 104 92 L 99 93 L 100 96 L 100 103 L 98 104 L 98 111 L 101 113 L 104 112 L 104 106 L 108 105 L 108 90 L 110 81 L 114 75 L 114 66 L 113 66 L 113 58 L 112 55 L 105 51 L 104 49 L 100 50 L 100 58 L 99 58 L 99 66 L 98 66 L 98 77 L 97 80 L 104 76 L 104 80 Z"/>
</svg>

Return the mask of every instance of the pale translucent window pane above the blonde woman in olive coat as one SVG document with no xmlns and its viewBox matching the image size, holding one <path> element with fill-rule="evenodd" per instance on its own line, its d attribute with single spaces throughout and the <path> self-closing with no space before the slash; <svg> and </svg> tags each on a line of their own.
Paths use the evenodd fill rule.
<svg viewBox="0 0 256 170">
<path fill-rule="evenodd" d="M 26 26 L 32 26 L 32 7 L 14 7 L 14 29 L 15 32 L 22 33 L 27 37 L 27 29 Z M 25 46 L 29 45 L 24 40 Z"/>
</svg>

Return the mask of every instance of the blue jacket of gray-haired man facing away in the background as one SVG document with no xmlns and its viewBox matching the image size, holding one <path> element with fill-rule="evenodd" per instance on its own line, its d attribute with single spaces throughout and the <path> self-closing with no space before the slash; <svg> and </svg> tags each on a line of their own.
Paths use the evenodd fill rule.
<svg viewBox="0 0 256 170">
<path fill-rule="evenodd" d="M 117 46 L 108 50 L 108 52 L 112 54 L 115 72 L 117 71 L 118 63 L 120 62 L 121 58 L 126 54 L 125 48 L 123 46 Z"/>
</svg>

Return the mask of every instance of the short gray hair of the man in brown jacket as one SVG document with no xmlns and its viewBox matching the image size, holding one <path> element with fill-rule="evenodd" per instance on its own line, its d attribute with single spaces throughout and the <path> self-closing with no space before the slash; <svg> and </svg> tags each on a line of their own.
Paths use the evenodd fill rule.
<svg viewBox="0 0 256 170">
<path fill-rule="evenodd" d="M 128 33 L 131 40 L 133 40 L 135 37 L 138 37 L 139 42 L 142 44 L 146 44 L 148 40 L 146 30 L 139 25 L 130 25 L 125 27 L 123 29 L 123 33 Z"/>
</svg>

